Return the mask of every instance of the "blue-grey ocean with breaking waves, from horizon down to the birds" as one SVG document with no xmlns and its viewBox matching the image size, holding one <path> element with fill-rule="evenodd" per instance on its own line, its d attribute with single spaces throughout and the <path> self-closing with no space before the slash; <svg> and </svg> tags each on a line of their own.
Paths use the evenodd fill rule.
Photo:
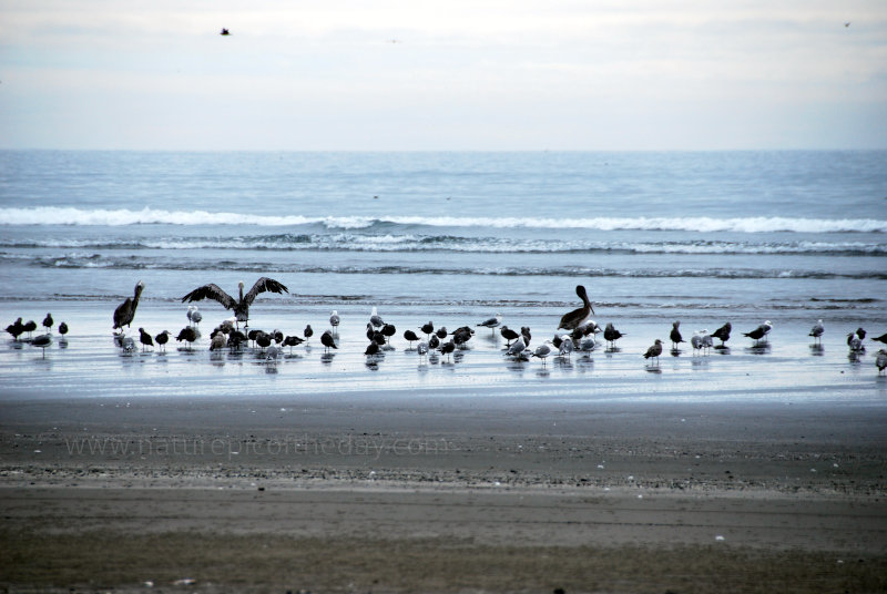
<svg viewBox="0 0 887 594">
<path fill-rule="evenodd" d="M 336 309 L 355 351 L 373 306 L 410 327 L 501 313 L 542 340 L 582 284 L 635 359 L 676 319 L 686 337 L 731 320 L 734 344 L 767 319 L 774 355 L 809 358 L 824 319 L 844 366 L 848 331 L 887 331 L 885 256 L 885 151 L 0 152 L 3 326 L 68 309 L 82 344 L 104 337 L 109 372 L 111 314 L 136 281 L 135 326 L 175 334 L 186 293 L 259 276 L 289 295 L 261 296 L 256 325 L 323 331 Z M 17 357 L 0 360 L 8 387 Z"/>
</svg>

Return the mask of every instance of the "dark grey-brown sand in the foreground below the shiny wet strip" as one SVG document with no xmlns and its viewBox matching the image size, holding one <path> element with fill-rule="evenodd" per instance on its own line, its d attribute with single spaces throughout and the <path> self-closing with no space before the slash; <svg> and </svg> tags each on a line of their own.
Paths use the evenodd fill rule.
<svg viewBox="0 0 887 594">
<path fill-rule="evenodd" d="M 887 590 L 879 404 L 376 393 L 0 418 L 10 592 Z"/>
</svg>

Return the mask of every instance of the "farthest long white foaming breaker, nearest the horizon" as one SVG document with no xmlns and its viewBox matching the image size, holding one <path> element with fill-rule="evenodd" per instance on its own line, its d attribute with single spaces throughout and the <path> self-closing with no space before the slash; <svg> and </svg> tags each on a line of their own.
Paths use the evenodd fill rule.
<svg viewBox="0 0 887 594">
<path fill-rule="evenodd" d="M 285 227 L 322 224 L 330 229 L 359 229 L 376 224 L 426 227 L 552 228 L 590 231 L 681 231 L 696 233 L 887 233 L 887 221 L 870 218 L 791 218 L 791 217 L 422 217 L 422 216 L 344 216 L 306 217 L 300 215 L 254 215 L 210 213 L 206 211 L 81 209 L 44 206 L 0 208 L 3 225 L 255 225 Z"/>
</svg>

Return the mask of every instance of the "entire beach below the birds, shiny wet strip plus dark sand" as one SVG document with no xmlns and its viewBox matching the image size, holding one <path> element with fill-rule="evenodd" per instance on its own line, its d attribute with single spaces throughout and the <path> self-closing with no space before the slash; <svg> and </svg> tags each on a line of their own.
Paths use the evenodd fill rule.
<svg viewBox="0 0 887 594">
<path fill-rule="evenodd" d="M 354 325 L 268 365 L 122 356 L 94 309 L 48 362 L 0 354 L 0 588 L 887 588 L 887 388 L 802 322 L 659 369 L 655 319 L 546 366 L 483 329 L 452 362 L 367 362 Z"/>
</svg>

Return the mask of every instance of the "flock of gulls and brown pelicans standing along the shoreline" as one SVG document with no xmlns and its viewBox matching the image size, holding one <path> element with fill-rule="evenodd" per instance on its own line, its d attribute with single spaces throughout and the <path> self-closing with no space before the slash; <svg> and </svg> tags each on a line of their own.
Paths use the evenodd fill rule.
<svg viewBox="0 0 887 594">
<path fill-rule="evenodd" d="M 182 303 L 213 299 L 223 305 L 225 309 L 234 313 L 233 317 L 225 319 L 210 334 L 211 351 L 218 351 L 222 349 L 239 350 L 244 345 L 249 345 L 255 348 L 259 348 L 261 352 L 264 354 L 267 360 L 276 361 L 282 354 L 282 348 L 289 347 L 292 352 L 293 347 L 297 347 L 303 342 L 307 342 L 314 336 L 314 329 L 310 325 L 305 327 L 302 336 L 284 335 L 279 330 L 274 330 L 271 332 L 255 329 L 251 330 L 248 327 L 249 306 L 253 304 L 256 297 L 266 291 L 282 294 L 289 293 L 289 290 L 282 283 L 264 276 L 256 280 L 253 287 L 246 294 L 244 294 L 244 287 L 245 285 L 243 283 L 238 284 L 239 293 L 237 298 L 232 297 L 214 284 L 197 287 L 182 297 Z M 123 328 L 124 326 L 126 328 L 131 328 L 143 290 L 144 283 L 140 280 L 135 285 L 133 296 L 131 298 L 126 298 L 126 300 L 120 304 L 120 306 L 118 306 L 118 308 L 114 310 L 114 340 L 116 345 L 124 351 L 133 351 L 136 348 L 135 339 L 126 336 Z M 476 326 L 489 328 L 493 332 L 496 332 L 498 328 L 499 334 L 506 339 L 507 356 L 521 360 L 538 358 L 542 360 L 543 365 L 546 359 L 550 356 L 557 355 L 559 357 L 570 357 L 573 351 L 590 352 L 597 349 L 599 347 L 597 335 L 599 334 L 603 334 L 603 339 L 606 342 L 608 349 L 618 350 L 616 340 L 625 335 L 615 329 L 612 322 L 609 322 L 604 328 L 601 328 L 593 319 L 591 319 L 591 316 L 594 314 L 594 309 L 589 300 L 585 287 L 582 285 L 577 286 L 575 293 L 577 296 L 579 296 L 579 298 L 582 300 L 582 305 L 579 308 L 564 314 L 563 317 L 561 317 L 558 331 L 554 334 L 554 337 L 544 340 L 534 349 L 530 349 L 530 342 L 532 340 L 530 328 L 523 326 L 520 328 L 520 331 L 509 328 L 508 326 L 502 325 L 502 316 L 499 314 L 481 321 L 480 324 L 477 324 Z M 202 336 L 200 331 L 200 322 L 203 320 L 203 314 L 198 310 L 197 306 L 188 306 L 187 320 L 187 326 L 185 326 L 179 332 L 176 340 L 180 342 L 184 341 L 187 345 L 186 348 L 191 350 L 193 349 L 193 344 Z M 329 316 L 330 328 L 320 335 L 320 344 L 324 346 L 324 349 L 327 352 L 329 349 L 338 349 L 337 338 L 340 321 L 341 320 L 338 313 L 334 310 Z M 243 325 L 243 329 L 241 329 L 241 325 Z M 43 357 L 45 357 L 47 347 L 52 345 L 52 315 L 47 314 L 47 317 L 43 320 L 43 327 L 47 331 L 40 336 L 32 337 L 33 331 L 37 330 L 37 324 L 34 321 L 22 322 L 22 318 L 17 319 L 13 324 L 8 326 L 7 332 L 12 335 L 13 339 L 17 341 L 20 339 L 21 335 L 27 332 L 29 335 L 27 340 L 30 341 L 32 346 L 42 348 Z M 672 324 L 672 329 L 669 336 L 671 339 L 672 355 L 680 354 L 680 345 L 686 342 L 681 334 L 680 327 L 680 321 Z M 440 352 L 441 355 L 449 357 L 457 349 L 468 348 L 468 341 L 475 336 L 475 329 L 470 326 L 462 326 L 453 331 L 449 331 L 446 327 L 435 328 L 434 324 L 428 321 L 417 329 L 425 335 L 425 338 L 421 338 L 412 329 L 405 330 L 402 336 L 404 339 L 409 342 L 410 349 L 412 349 L 412 345 L 416 344 L 415 349 L 420 357 L 425 357 L 431 351 Z M 757 347 L 761 346 L 762 342 L 766 342 L 767 335 L 772 329 L 773 325 L 769 320 L 767 320 L 757 328 L 748 332 L 743 332 L 743 336 L 754 340 L 754 345 Z M 559 334 L 562 330 L 563 332 Z M 699 330 L 693 332 L 693 336 L 690 338 L 690 345 L 693 348 L 693 354 L 705 355 L 712 348 L 726 349 L 726 342 L 730 340 L 732 330 L 733 327 L 731 322 L 727 321 L 712 334 L 708 334 L 707 330 Z M 824 332 L 825 327 L 823 325 L 823 320 L 818 320 L 809 331 L 809 336 L 814 339 L 814 348 L 822 347 L 822 337 Z M 68 334 L 68 325 L 65 322 L 61 322 L 59 325 L 59 334 L 62 336 L 60 341 L 64 340 L 64 336 Z M 369 321 L 367 322 L 366 337 L 369 342 L 364 354 L 367 357 L 373 357 L 379 355 L 383 350 L 390 349 L 390 339 L 396 336 L 396 334 L 397 328 L 392 324 L 385 322 L 381 316 L 379 316 L 377 308 L 374 307 L 369 316 Z M 159 335 L 152 336 L 145 331 L 144 328 L 139 328 L 139 342 L 141 344 L 142 350 L 145 350 L 146 348 L 153 349 L 155 345 L 160 349 L 165 350 L 166 344 L 171 337 L 172 332 L 169 330 L 163 330 Z M 714 345 L 715 338 L 721 341 L 720 345 Z M 858 328 L 856 331 L 847 335 L 847 346 L 850 349 L 852 356 L 865 351 L 865 338 L 866 331 L 863 328 Z M 887 345 L 887 334 L 878 337 L 870 337 L 869 339 Z M 653 345 L 644 352 L 644 358 L 651 360 L 651 365 L 659 366 L 659 357 L 663 352 L 663 346 L 664 342 L 661 339 L 655 339 Z M 883 373 L 885 368 L 887 368 L 887 350 L 880 349 L 878 351 L 875 358 L 875 365 L 878 368 L 878 375 Z"/>
</svg>

